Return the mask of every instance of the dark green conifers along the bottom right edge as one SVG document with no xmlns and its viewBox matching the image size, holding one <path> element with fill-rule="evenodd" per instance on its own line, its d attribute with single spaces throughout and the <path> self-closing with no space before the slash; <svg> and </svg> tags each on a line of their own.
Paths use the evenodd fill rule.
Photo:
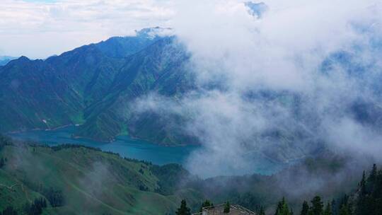
<svg viewBox="0 0 382 215">
<path fill-rule="evenodd" d="M 298 211 L 288 204 L 285 197 L 277 202 L 274 212 L 267 214 L 274 215 L 380 215 L 382 214 L 382 170 L 378 170 L 376 164 L 366 176 L 364 172 L 355 192 L 344 194 L 342 197 L 323 201 L 320 196 L 315 196 L 311 200 L 303 201 Z M 202 203 L 199 212 L 204 207 L 214 207 L 209 200 Z M 224 206 L 224 213 L 229 213 L 229 202 Z M 295 207 L 296 209 L 296 207 Z M 256 214 L 265 215 L 264 207 L 253 209 Z M 272 209 L 268 209 L 272 211 Z M 190 208 L 187 207 L 185 199 L 182 200 L 177 215 L 189 215 Z"/>
</svg>

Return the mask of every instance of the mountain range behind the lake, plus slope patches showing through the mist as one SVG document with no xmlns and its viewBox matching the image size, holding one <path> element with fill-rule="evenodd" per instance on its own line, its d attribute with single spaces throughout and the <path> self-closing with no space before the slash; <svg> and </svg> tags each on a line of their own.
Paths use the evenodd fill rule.
<svg viewBox="0 0 382 215">
<path fill-rule="evenodd" d="M 135 36 L 111 37 L 44 60 L 20 57 L 0 66 L 0 132 L 77 124 L 73 137 L 96 141 L 111 142 L 117 135 L 128 134 L 156 144 L 200 144 L 184 131 L 184 116 L 139 115 L 132 105 L 151 93 L 176 103 L 197 88 L 190 53 L 177 37 L 163 35 L 161 30 L 146 28 Z M 346 52 L 332 54 L 322 71 L 329 73 L 338 64 L 349 73 L 354 68 L 362 71 L 361 66 L 349 66 L 350 58 Z M 287 105 L 296 121 L 267 130 L 260 136 L 262 145 L 248 151 L 260 150 L 267 159 L 288 162 L 323 149 L 323 140 L 311 132 L 318 123 L 312 120 L 315 116 L 307 117 L 299 110 L 301 95 L 262 91 L 247 96 L 254 103 Z M 358 100 L 346 111 L 361 123 L 380 127 L 382 110 L 374 103 Z"/>
</svg>

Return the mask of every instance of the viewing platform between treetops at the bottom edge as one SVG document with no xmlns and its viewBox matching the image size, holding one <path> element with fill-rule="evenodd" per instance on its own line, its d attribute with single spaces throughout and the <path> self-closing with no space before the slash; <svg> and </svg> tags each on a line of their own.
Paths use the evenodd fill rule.
<svg viewBox="0 0 382 215">
<path fill-rule="evenodd" d="M 231 205 L 229 213 L 224 213 L 224 206 L 226 204 L 218 204 L 212 207 L 202 208 L 202 212 L 195 213 L 192 215 L 256 215 L 255 212 L 241 207 L 238 204 Z"/>
</svg>

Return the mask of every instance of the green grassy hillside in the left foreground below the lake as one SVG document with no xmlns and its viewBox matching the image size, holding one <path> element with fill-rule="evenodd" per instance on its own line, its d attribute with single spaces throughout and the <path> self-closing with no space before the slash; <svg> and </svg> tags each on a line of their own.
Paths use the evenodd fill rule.
<svg viewBox="0 0 382 215">
<path fill-rule="evenodd" d="M 168 214 L 192 190 L 173 190 L 180 166 L 156 166 L 83 146 L 57 147 L 1 139 L 0 211 L 45 199 L 42 214 Z M 157 176 L 158 175 L 158 176 Z M 80 212 L 81 211 L 81 212 Z"/>
</svg>

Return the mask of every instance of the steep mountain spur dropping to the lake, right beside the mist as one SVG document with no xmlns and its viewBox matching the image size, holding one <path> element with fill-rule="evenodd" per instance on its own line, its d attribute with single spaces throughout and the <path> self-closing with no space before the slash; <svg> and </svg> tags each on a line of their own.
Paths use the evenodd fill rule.
<svg viewBox="0 0 382 215">
<path fill-rule="evenodd" d="M 163 38 L 145 50 L 127 57 L 106 91 L 108 96 L 85 109 L 86 122 L 76 135 L 92 134 L 96 139 L 111 139 L 125 126 L 129 134 L 142 139 L 162 144 L 180 142 L 180 139 L 168 141 L 166 133 L 170 131 L 163 128 L 163 123 L 166 122 L 156 120 L 158 117 L 148 116 L 134 123 L 134 115 L 129 107 L 129 103 L 135 98 L 149 92 L 175 96 L 192 88 L 192 82 L 187 81 L 192 77 L 184 67 L 188 56 L 173 40 L 173 37 Z M 123 113 L 117 114 L 122 111 Z"/>
</svg>

